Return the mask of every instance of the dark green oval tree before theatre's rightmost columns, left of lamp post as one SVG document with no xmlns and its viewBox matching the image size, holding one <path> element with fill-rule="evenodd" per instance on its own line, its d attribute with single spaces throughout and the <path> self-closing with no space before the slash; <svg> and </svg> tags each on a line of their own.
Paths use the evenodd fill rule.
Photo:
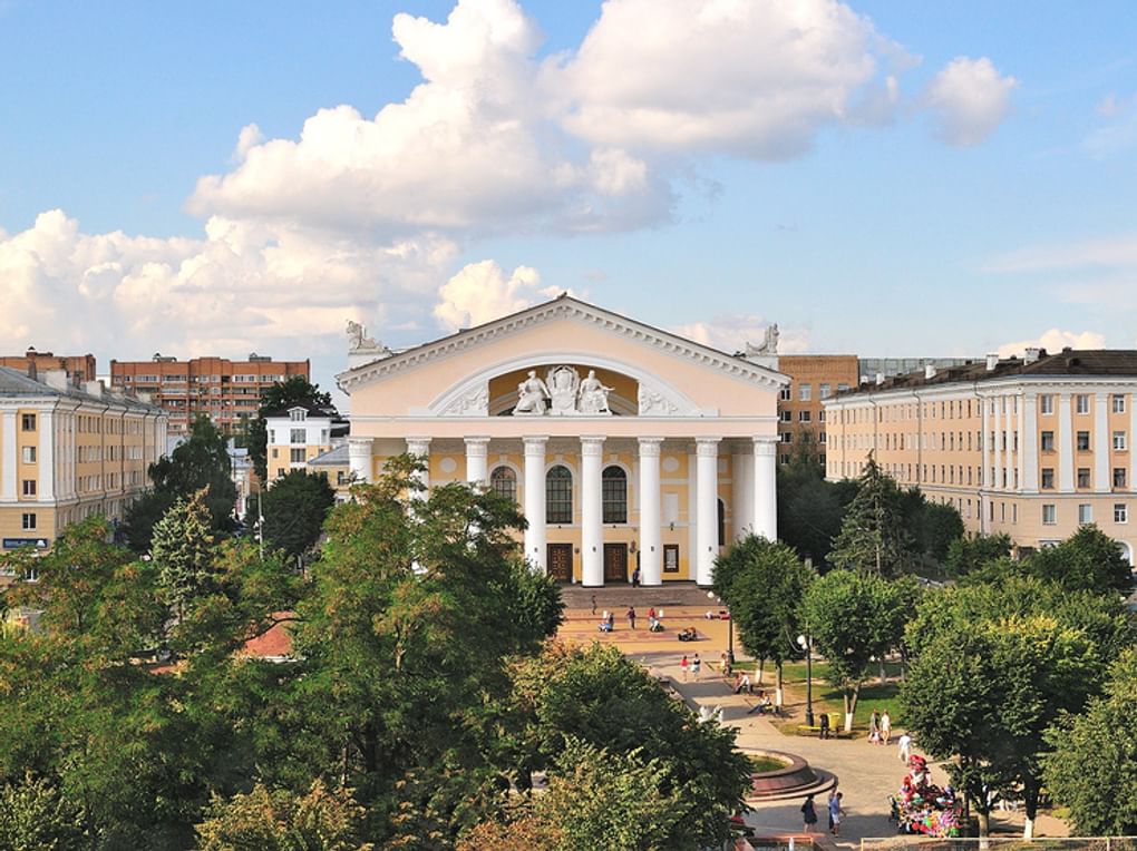
<svg viewBox="0 0 1137 851">
<path fill-rule="evenodd" d="M 786 544 L 748 535 L 715 560 L 714 591 L 730 607 L 730 616 L 747 653 L 778 671 L 778 704 L 782 699 L 782 664 L 799 651 L 802 600 L 813 573 Z"/>
</svg>

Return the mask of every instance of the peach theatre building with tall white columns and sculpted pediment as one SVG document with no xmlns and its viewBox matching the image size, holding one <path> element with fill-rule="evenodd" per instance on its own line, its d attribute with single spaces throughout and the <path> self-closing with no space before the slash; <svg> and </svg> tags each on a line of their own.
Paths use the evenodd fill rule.
<svg viewBox="0 0 1137 851">
<path fill-rule="evenodd" d="M 525 558 L 565 582 L 709 584 L 720 548 L 777 536 L 777 399 L 742 357 L 568 297 L 339 376 L 351 470 L 428 461 L 424 484 L 517 501 Z M 358 359 L 354 359 L 358 364 Z"/>
</svg>

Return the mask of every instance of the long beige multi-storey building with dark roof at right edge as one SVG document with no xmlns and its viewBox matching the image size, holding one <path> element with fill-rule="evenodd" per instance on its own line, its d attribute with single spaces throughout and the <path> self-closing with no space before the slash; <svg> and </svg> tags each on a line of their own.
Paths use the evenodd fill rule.
<svg viewBox="0 0 1137 851">
<path fill-rule="evenodd" d="M 1095 523 L 1129 564 L 1137 547 L 1137 351 L 1029 349 L 880 379 L 825 401 L 827 475 L 873 453 L 903 486 L 1020 550 Z"/>
</svg>

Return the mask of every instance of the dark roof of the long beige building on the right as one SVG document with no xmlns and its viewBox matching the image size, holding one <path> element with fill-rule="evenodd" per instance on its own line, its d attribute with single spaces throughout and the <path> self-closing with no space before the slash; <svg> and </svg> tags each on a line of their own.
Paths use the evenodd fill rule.
<svg viewBox="0 0 1137 851">
<path fill-rule="evenodd" d="M 1132 349 L 1063 349 L 1054 354 L 1045 349 L 1029 353 L 1032 357 L 1010 357 L 998 360 L 989 369 L 986 360 L 977 359 L 927 372 L 906 373 L 887 378 L 880 384 L 865 383 L 839 395 L 855 393 L 881 393 L 890 390 L 908 390 L 945 384 L 996 381 L 998 378 L 1057 378 L 1057 377 L 1113 377 L 1137 378 L 1137 350 Z M 994 357 L 994 356 L 993 356 Z"/>
</svg>

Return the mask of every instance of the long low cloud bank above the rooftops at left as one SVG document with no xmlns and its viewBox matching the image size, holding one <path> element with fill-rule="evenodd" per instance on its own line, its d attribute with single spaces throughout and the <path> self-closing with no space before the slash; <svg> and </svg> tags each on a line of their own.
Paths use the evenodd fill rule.
<svg viewBox="0 0 1137 851">
<path fill-rule="evenodd" d="M 135 353 L 316 344 L 350 316 L 397 319 L 433 295 L 454 243 L 359 244 L 222 217 L 202 239 L 85 234 L 61 210 L 0 233 L 0 303 L 17 344 Z M 98 322 L 92 322 L 97 318 Z"/>
</svg>

